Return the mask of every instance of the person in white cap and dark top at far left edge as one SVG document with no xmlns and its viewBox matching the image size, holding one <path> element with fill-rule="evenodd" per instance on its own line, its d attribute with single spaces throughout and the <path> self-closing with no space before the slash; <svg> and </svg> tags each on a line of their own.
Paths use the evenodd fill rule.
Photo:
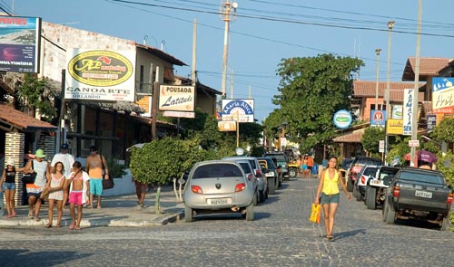
<svg viewBox="0 0 454 267">
<path fill-rule="evenodd" d="M 5 193 L 7 217 L 15 217 L 15 161 L 8 159 L 6 167 L 0 179 L 0 193 Z M 1 199 L 0 201 L 3 201 Z"/>
</svg>

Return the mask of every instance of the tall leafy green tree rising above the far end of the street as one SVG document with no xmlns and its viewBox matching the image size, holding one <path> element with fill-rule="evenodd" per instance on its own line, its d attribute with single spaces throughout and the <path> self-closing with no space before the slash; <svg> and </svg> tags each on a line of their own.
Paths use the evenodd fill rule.
<svg viewBox="0 0 454 267">
<path fill-rule="evenodd" d="M 332 116 L 337 110 L 349 110 L 352 74 L 363 62 L 350 57 L 321 54 L 317 57 L 284 59 L 279 64 L 279 91 L 273 103 L 281 106 L 276 121 L 286 120 L 292 137 L 302 138 L 301 149 L 327 143 L 335 136 Z M 271 127 L 271 128 L 270 128 Z"/>
</svg>

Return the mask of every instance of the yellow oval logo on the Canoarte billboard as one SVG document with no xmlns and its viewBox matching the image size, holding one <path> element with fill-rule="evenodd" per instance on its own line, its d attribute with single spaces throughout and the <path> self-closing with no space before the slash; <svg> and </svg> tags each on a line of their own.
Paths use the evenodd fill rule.
<svg viewBox="0 0 454 267">
<path fill-rule="evenodd" d="M 74 80 L 99 87 L 118 85 L 133 75 L 133 64 L 127 58 L 104 50 L 77 54 L 67 69 Z"/>
</svg>

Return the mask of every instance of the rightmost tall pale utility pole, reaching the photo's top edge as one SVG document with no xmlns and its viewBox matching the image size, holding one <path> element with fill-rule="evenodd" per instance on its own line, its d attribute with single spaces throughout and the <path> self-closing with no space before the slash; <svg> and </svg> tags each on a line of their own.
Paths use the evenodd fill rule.
<svg viewBox="0 0 454 267">
<path fill-rule="evenodd" d="M 413 100 L 411 106 L 411 140 L 418 138 L 418 92 L 419 92 L 419 51 L 421 45 L 421 16 L 422 16 L 422 0 L 419 0 L 418 5 L 418 33 L 416 35 L 416 58 L 415 58 L 415 87 L 413 90 Z M 418 167 L 418 157 L 416 156 L 416 148 L 411 147 L 410 166 Z"/>
</svg>

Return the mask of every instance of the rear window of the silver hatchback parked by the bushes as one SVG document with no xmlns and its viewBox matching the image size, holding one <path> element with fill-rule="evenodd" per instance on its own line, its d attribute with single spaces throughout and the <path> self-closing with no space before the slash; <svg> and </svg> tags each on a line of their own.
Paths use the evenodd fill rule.
<svg viewBox="0 0 454 267">
<path fill-rule="evenodd" d="M 232 176 L 242 176 L 241 169 L 232 164 L 210 164 L 197 167 L 192 175 L 192 179 Z"/>
</svg>

